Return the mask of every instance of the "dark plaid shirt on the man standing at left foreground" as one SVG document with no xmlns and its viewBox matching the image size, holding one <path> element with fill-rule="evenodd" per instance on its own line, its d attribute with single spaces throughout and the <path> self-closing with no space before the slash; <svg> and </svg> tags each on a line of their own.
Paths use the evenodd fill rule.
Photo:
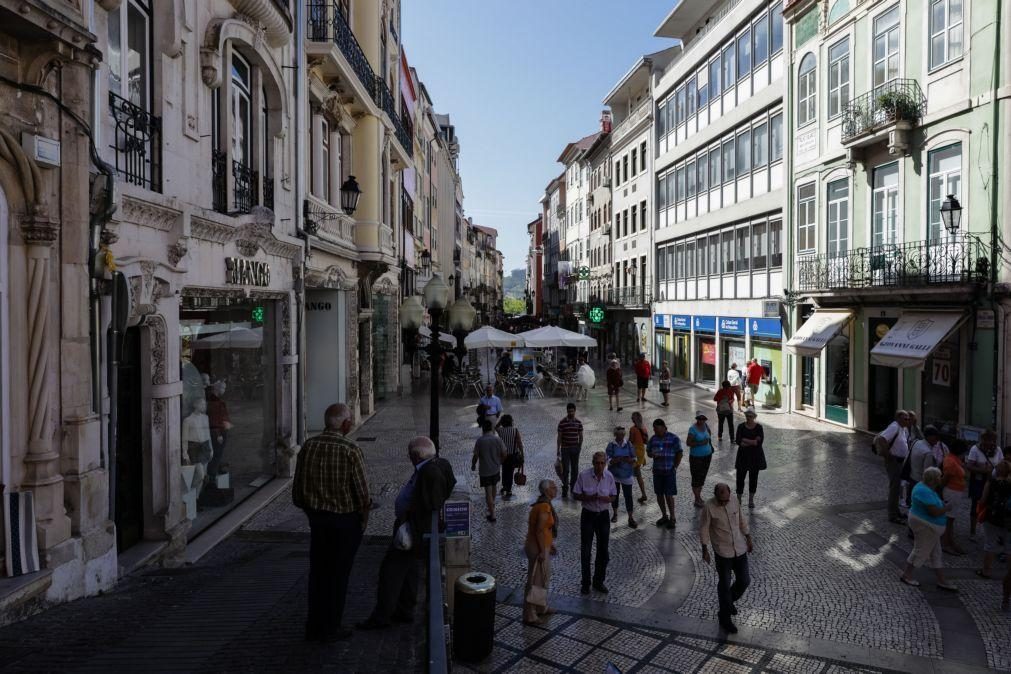
<svg viewBox="0 0 1011 674">
<path fill-rule="evenodd" d="M 303 510 L 368 510 L 369 483 L 361 449 L 337 430 L 327 429 L 305 441 L 295 465 L 291 500 Z"/>
</svg>

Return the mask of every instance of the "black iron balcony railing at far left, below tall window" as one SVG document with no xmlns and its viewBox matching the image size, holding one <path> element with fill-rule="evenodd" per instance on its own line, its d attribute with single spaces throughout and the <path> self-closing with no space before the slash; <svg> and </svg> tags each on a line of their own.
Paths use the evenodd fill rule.
<svg viewBox="0 0 1011 674">
<path fill-rule="evenodd" d="M 162 191 L 162 118 L 109 92 L 109 111 L 115 121 L 112 150 L 115 169 L 123 180 Z"/>
</svg>

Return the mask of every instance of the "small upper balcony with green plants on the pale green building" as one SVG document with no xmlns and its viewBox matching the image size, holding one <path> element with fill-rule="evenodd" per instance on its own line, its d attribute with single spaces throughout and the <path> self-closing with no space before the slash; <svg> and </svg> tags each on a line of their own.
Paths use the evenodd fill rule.
<svg viewBox="0 0 1011 674">
<path fill-rule="evenodd" d="M 916 80 L 892 80 L 851 100 L 842 112 L 842 145 L 877 142 L 886 130 L 893 155 L 908 154 L 905 137 L 927 111 L 927 99 Z"/>
</svg>

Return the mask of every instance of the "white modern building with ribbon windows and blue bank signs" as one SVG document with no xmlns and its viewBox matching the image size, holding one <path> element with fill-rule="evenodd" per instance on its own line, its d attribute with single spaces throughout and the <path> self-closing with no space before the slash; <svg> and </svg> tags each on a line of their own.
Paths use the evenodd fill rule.
<svg viewBox="0 0 1011 674">
<path fill-rule="evenodd" d="M 655 360 L 717 387 L 732 363 L 755 358 L 765 370 L 757 401 L 779 406 L 783 3 L 680 3 L 656 34 L 683 52 L 653 89 Z"/>
</svg>

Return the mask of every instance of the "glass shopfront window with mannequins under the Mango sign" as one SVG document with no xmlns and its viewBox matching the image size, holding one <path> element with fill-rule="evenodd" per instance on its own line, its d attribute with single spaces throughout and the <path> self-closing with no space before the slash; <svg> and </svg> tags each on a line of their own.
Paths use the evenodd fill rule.
<svg viewBox="0 0 1011 674">
<path fill-rule="evenodd" d="M 183 503 L 191 536 L 275 475 L 275 311 L 240 300 L 179 312 Z"/>
</svg>

